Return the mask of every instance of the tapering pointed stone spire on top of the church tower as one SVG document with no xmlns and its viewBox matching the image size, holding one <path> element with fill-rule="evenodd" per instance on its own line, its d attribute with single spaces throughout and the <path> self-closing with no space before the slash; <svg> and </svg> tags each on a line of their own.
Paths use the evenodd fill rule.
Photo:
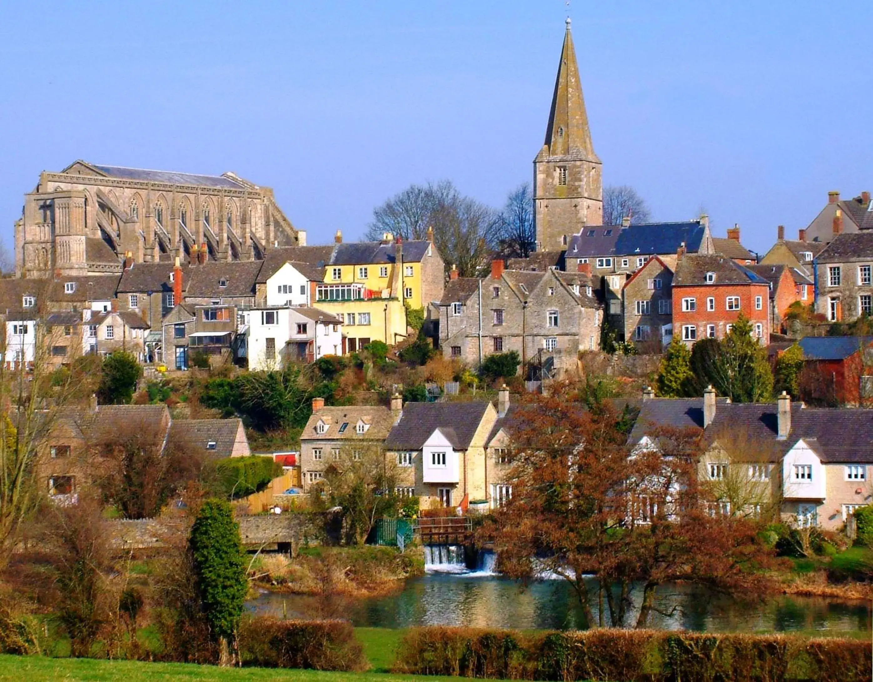
<svg viewBox="0 0 873 682">
<path fill-rule="evenodd" d="M 588 113 L 582 97 L 579 65 L 576 63 L 569 17 L 564 46 L 560 51 L 558 78 L 554 83 L 552 110 L 548 117 L 543 153 L 546 156 L 574 156 L 599 161 L 591 142 L 591 129 L 588 127 Z"/>
</svg>

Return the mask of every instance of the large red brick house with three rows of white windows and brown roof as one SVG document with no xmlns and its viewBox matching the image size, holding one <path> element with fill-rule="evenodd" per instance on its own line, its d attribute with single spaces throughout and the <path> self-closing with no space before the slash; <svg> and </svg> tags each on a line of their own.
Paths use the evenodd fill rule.
<svg viewBox="0 0 873 682">
<path fill-rule="evenodd" d="M 724 338 L 742 313 L 761 344 L 770 339 L 770 283 L 726 256 L 677 255 L 673 334 L 686 344 Z"/>
</svg>

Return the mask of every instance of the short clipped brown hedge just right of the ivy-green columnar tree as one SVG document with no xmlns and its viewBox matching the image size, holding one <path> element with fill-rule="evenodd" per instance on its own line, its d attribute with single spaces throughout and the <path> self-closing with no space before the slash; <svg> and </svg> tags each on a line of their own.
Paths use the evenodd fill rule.
<svg viewBox="0 0 873 682">
<path fill-rule="evenodd" d="M 368 667 L 347 621 L 251 618 L 240 628 L 239 648 L 243 665 L 342 672 Z"/>
</svg>

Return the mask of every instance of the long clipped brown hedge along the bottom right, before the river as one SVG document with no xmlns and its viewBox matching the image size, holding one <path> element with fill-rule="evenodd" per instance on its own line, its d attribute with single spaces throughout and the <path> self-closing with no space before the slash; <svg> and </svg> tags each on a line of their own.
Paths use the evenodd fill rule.
<svg viewBox="0 0 873 682">
<path fill-rule="evenodd" d="M 497 679 L 635 682 L 869 682 L 869 641 L 640 630 L 522 633 L 416 628 L 395 672 Z"/>
</svg>

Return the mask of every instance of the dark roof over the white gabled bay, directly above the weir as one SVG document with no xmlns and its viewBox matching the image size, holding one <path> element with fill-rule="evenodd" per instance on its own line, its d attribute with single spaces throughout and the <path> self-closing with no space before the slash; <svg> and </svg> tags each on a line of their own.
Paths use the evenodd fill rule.
<svg viewBox="0 0 873 682">
<path fill-rule="evenodd" d="M 407 403 L 400 421 L 385 441 L 389 450 L 420 450 L 436 429 L 451 447 L 466 450 L 491 403 Z"/>
</svg>

